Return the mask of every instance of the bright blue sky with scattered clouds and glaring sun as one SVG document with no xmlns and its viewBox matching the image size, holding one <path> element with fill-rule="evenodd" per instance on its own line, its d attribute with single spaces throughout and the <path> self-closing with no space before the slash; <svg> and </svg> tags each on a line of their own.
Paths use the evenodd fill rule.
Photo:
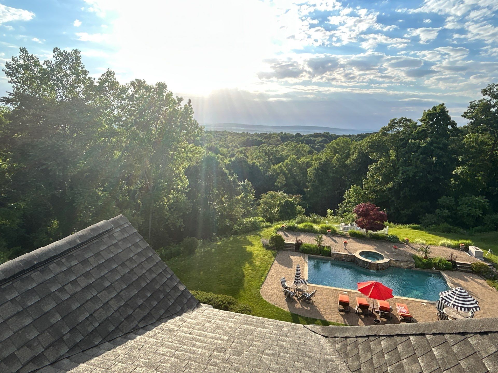
<svg viewBox="0 0 498 373">
<path fill-rule="evenodd" d="M 200 122 L 376 130 L 498 82 L 498 1 L 0 0 L 0 64 L 80 49 L 98 77 L 163 81 Z M 0 92 L 9 90 L 1 74 Z"/>
</svg>

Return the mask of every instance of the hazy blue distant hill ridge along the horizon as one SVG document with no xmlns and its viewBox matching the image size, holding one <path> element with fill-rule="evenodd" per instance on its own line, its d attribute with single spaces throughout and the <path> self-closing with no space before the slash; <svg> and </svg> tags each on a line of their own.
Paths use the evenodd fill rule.
<svg viewBox="0 0 498 373">
<path fill-rule="evenodd" d="M 358 130 L 353 128 L 335 128 L 335 127 L 320 127 L 320 126 L 264 126 L 256 124 L 241 124 L 241 123 L 202 123 L 206 131 L 232 131 L 232 132 L 289 132 L 301 133 L 303 135 L 315 132 L 329 132 L 336 135 L 355 135 L 359 133 L 373 132 L 372 130 Z"/>
</svg>

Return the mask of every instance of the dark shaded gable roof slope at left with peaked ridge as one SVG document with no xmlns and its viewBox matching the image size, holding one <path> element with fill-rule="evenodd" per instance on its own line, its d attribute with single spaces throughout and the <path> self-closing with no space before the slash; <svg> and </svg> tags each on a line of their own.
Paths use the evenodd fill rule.
<svg viewBox="0 0 498 373">
<path fill-rule="evenodd" d="M 0 372 L 31 372 L 197 300 L 123 216 L 0 265 Z"/>
</svg>

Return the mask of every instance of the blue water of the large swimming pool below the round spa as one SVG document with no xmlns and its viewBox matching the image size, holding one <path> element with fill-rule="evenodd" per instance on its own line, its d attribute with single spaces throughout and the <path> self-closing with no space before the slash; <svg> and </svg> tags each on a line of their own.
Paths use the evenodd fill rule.
<svg viewBox="0 0 498 373">
<path fill-rule="evenodd" d="M 357 282 L 379 281 L 392 289 L 392 295 L 438 300 L 439 292 L 449 290 L 438 272 L 389 267 L 371 271 L 353 263 L 308 257 L 308 281 L 317 285 L 356 290 Z"/>
</svg>

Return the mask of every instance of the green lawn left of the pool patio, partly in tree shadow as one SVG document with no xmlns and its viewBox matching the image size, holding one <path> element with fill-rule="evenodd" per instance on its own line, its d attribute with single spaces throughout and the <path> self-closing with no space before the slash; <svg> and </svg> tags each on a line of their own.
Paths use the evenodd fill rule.
<svg viewBox="0 0 498 373">
<path fill-rule="evenodd" d="M 260 242 L 269 233 L 270 229 L 266 229 L 203 245 L 194 255 L 173 258 L 167 265 L 190 290 L 231 295 L 248 303 L 255 316 L 300 324 L 340 325 L 284 311 L 263 299 L 259 289 L 276 255 Z"/>
</svg>

